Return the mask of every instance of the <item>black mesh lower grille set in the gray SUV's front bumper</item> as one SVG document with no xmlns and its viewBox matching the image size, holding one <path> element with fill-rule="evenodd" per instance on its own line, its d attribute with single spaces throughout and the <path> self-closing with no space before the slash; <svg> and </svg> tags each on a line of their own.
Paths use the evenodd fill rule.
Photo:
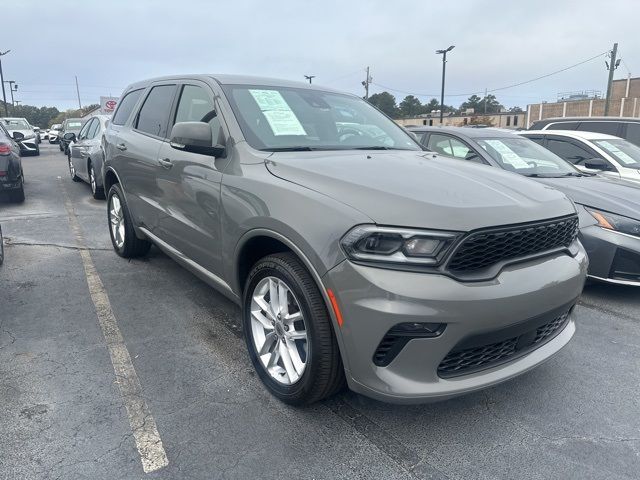
<svg viewBox="0 0 640 480">
<path fill-rule="evenodd" d="M 466 375 L 508 361 L 515 355 L 520 356 L 551 340 L 566 324 L 568 316 L 569 312 L 566 312 L 533 330 L 500 342 L 458 351 L 454 349 L 440 362 L 438 375 L 442 378 Z"/>
</svg>

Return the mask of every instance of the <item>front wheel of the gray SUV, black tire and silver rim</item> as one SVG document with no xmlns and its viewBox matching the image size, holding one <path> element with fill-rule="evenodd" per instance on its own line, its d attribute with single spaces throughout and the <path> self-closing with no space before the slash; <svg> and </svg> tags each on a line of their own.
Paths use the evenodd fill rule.
<svg viewBox="0 0 640 480">
<path fill-rule="evenodd" d="M 251 362 L 281 401 L 307 405 L 343 387 L 326 305 L 292 253 L 269 255 L 254 265 L 244 289 L 242 322 Z"/>
</svg>

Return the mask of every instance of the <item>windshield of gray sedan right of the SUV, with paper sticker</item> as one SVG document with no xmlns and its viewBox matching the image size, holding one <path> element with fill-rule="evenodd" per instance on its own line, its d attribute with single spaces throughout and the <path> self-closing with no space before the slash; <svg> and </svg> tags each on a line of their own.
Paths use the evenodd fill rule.
<svg viewBox="0 0 640 480">
<path fill-rule="evenodd" d="M 528 138 L 482 138 L 477 142 L 505 170 L 528 176 L 580 175 L 580 171 Z"/>
</svg>

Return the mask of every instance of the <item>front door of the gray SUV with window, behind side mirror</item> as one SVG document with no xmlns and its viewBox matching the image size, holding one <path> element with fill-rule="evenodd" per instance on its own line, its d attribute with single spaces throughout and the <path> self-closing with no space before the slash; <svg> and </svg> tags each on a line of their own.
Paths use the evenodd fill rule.
<svg viewBox="0 0 640 480">
<path fill-rule="evenodd" d="M 179 100 L 171 119 L 178 122 L 209 123 L 214 144 L 224 145 L 227 129 L 216 112 L 214 92 L 206 83 L 188 81 L 180 85 Z M 184 152 L 169 142 L 160 147 L 164 215 L 160 236 L 174 248 L 206 268 L 220 274 L 220 187 L 225 158 Z"/>
</svg>

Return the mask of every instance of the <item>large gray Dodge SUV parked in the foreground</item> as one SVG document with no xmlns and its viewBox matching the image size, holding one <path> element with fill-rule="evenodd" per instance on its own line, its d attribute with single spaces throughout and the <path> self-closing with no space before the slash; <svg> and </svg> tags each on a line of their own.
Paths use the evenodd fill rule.
<svg viewBox="0 0 640 480">
<path fill-rule="evenodd" d="M 116 253 L 151 245 L 242 307 L 290 404 L 345 383 L 398 403 L 515 377 L 575 332 L 573 204 L 426 152 L 359 97 L 264 78 L 128 87 L 104 136 Z"/>
</svg>

